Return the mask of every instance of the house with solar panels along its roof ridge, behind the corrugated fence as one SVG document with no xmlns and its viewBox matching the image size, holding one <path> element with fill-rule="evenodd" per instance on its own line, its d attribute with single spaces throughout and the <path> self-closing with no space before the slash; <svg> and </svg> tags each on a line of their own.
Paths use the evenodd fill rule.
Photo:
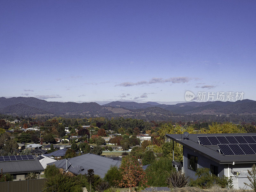
<svg viewBox="0 0 256 192">
<path fill-rule="evenodd" d="M 0 169 L 13 175 L 13 180 L 25 180 L 29 172 L 44 171 L 43 166 L 34 155 L 0 156 Z"/>
</svg>

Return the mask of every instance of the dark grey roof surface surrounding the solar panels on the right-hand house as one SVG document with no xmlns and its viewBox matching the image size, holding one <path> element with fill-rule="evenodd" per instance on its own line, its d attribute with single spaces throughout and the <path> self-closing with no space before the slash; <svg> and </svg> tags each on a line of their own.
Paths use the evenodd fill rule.
<svg viewBox="0 0 256 192">
<path fill-rule="evenodd" d="M 172 139 L 187 148 L 195 150 L 197 153 L 212 159 L 217 163 L 233 162 L 256 162 L 256 155 L 224 156 L 219 153 L 218 146 L 203 146 L 198 143 L 198 136 L 239 136 L 256 135 L 256 133 L 219 133 L 219 134 L 189 134 L 189 139 L 184 139 L 180 134 L 166 134 L 166 137 Z"/>
</svg>

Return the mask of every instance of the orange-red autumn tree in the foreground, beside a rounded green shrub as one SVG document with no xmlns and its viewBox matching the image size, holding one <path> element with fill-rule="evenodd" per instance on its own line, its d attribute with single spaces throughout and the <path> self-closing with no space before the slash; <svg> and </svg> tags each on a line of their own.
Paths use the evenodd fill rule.
<svg viewBox="0 0 256 192">
<path fill-rule="evenodd" d="M 125 156 L 122 160 L 121 166 L 121 180 L 117 183 L 119 187 L 129 187 L 131 191 L 132 187 L 139 185 L 147 186 L 147 176 L 143 171 L 138 160 L 133 156 Z"/>
</svg>

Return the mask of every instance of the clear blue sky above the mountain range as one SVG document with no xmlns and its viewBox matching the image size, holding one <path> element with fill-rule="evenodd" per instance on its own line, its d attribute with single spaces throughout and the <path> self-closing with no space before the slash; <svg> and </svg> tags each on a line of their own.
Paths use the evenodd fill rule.
<svg viewBox="0 0 256 192">
<path fill-rule="evenodd" d="M 256 1 L 1 1 L 0 96 L 256 100 Z"/>
</svg>

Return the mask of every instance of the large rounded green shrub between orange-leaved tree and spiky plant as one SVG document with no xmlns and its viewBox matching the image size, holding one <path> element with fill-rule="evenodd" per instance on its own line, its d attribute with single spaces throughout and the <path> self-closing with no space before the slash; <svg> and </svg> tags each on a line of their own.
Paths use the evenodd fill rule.
<svg viewBox="0 0 256 192">
<path fill-rule="evenodd" d="M 175 171 L 172 161 L 167 157 L 155 159 L 146 169 L 148 185 L 154 187 L 167 187 L 166 178 Z"/>
</svg>

